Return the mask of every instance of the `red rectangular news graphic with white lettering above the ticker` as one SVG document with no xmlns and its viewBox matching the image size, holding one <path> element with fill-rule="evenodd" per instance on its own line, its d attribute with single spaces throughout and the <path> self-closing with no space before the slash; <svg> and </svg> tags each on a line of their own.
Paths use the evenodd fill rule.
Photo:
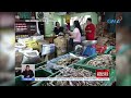
<svg viewBox="0 0 131 98">
<path fill-rule="evenodd" d="M 109 78 L 109 70 L 96 70 L 97 78 Z"/>
</svg>

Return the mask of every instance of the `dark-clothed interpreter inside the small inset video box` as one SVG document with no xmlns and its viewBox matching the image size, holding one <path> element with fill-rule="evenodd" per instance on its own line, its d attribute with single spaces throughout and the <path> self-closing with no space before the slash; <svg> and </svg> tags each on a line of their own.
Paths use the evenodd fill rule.
<svg viewBox="0 0 131 98">
<path fill-rule="evenodd" d="M 22 72 L 22 75 L 24 75 L 24 78 L 32 78 L 34 76 L 33 71 L 29 69 L 29 65 L 26 65 L 26 69 Z"/>
</svg>

